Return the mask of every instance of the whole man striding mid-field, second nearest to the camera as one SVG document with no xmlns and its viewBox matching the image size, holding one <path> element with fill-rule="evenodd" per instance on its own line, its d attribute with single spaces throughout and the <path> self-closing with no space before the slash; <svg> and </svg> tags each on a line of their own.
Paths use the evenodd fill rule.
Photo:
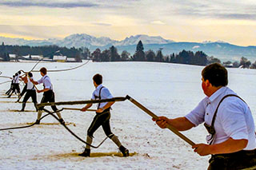
<svg viewBox="0 0 256 170">
<path fill-rule="evenodd" d="M 91 97 L 91 100 L 103 100 L 113 98 L 109 89 L 102 86 L 102 75 L 95 74 L 93 77 L 95 90 Z M 105 102 L 99 103 L 98 109 L 96 111 L 96 116 L 94 117 L 94 121 L 91 122 L 90 127 L 87 130 L 87 138 L 86 138 L 86 148 L 85 151 L 79 154 L 79 156 L 90 156 L 90 145 L 93 141 L 94 132 L 102 126 L 106 136 L 108 136 L 111 140 L 113 140 L 114 144 L 116 144 L 119 150 L 122 152 L 123 156 L 129 156 L 129 151 L 127 148 L 122 146 L 121 142 L 118 140 L 118 136 L 115 136 L 110 129 L 110 106 L 114 104 L 113 102 Z M 86 109 L 89 109 L 92 104 L 87 104 L 84 108 L 81 109 L 82 112 L 86 112 Z"/>
</svg>

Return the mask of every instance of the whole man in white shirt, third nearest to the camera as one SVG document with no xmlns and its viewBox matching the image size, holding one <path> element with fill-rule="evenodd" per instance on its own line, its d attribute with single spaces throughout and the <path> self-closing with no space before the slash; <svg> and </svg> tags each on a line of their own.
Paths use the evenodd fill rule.
<svg viewBox="0 0 256 170">
<path fill-rule="evenodd" d="M 38 81 L 34 81 L 33 79 L 30 78 L 30 81 L 34 85 L 43 84 L 44 89 L 37 90 L 38 93 L 43 92 L 43 97 L 42 97 L 41 103 L 55 102 L 53 86 L 51 85 L 50 77 L 48 77 L 48 75 L 46 75 L 47 69 L 45 67 L 42 67 L 39 71 L 41 73 L 42 78 Z M 37 125 L 40 124 L 40 118 L 42 116 L 43 108 L 44 107 L 38 108 L 38 119 L 35 122 L 35 124 L 37 124 Z M 58 110 L 56 105 L 52 105 L 51 108 L 54 110 L 54 112 L 56 112 Z M 61 113 L 57 112 L 57 115 L 58 115 L 58 118 L 59 118 L 59 121 L 61 122 L 61 124 L 65 125 L 65 121 L 62 119 Z"/>
</svg>

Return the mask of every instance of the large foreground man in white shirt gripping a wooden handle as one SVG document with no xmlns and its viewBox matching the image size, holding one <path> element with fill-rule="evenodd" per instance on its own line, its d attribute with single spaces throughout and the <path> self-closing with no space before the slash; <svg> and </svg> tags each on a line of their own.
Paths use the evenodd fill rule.
<svg viewBox="0 0 256 170">
<path fill-rule="evenodd" d="M 185 117 L 159 117 L 159 127 L 172 125 L 179 131 L 189 130 L 205 122 L 210 132 L 208 144 L 194 144 L 200 156 L 212 155 L 209 170 L 256 168 L 254 119 L 250 108 L 231 89 L 227 70 L 218 63 L 202 70 L 202 89 L 206 97 Z"/>
</svg>

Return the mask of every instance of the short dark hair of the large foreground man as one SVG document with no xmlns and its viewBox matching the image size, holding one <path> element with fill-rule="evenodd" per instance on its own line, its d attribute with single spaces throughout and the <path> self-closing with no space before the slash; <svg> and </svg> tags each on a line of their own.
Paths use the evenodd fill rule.
<svg viewBox="0 0 256 170">
<path fill-rule="evenodd" d="M 223 65 L 218 63 L 207 65 L 202 69 L 202 77 L 215 87 L 226 86 L 228 83 L 227 70 Z"/>
</svg>

